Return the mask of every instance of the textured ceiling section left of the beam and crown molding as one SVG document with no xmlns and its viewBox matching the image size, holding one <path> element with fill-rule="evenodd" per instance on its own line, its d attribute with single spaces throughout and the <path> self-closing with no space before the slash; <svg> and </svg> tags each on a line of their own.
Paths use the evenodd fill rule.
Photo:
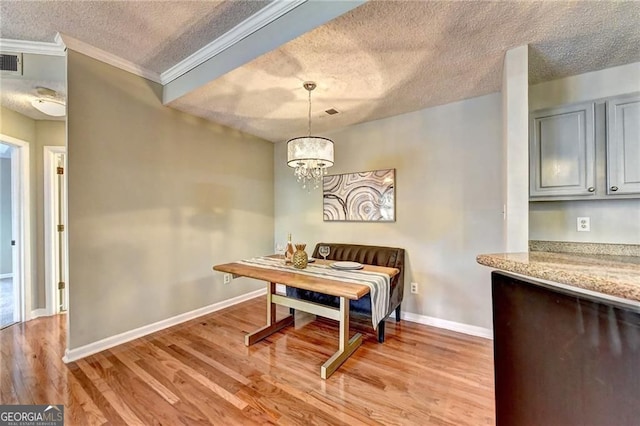
<svg viewBox="0 0 640 426">
<path fill-rule="evenodd" d="M 67 34 L 162 72 L 269 1 L 2 1 L 0 38 L 52 42 Z"/>
</svg>

